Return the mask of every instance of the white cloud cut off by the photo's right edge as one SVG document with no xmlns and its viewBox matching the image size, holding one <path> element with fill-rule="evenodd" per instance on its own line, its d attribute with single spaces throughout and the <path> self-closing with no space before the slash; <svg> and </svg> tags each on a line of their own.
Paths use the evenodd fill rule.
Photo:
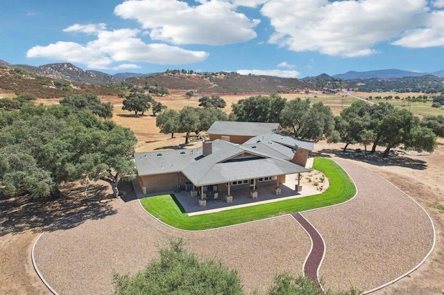
<svg viewBox="0 0 444 295">
<path fill-rule="evenodd" d="M 407 30 L 404 36 L 392 43 L 409 48 L 444 46 L 444 11 L 434 11 L 425 22 L 425 28 Z"/>
</svg>

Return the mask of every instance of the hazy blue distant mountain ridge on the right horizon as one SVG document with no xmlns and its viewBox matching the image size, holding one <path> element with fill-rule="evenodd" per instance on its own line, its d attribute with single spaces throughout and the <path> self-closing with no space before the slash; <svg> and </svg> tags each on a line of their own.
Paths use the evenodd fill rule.
<svg viewBox="0 0 444 295">
<path fill-rule="evenodd" d="M 444 70 L 437 71 L 435 73 L 417 73 L 411 71 L 402 71 L 398 69 L 364 71 L 364 72 L 348 71 L 347 73 L 333 75 L 333 77 L 339 79 L 368 79 L 368 78 L 391 79 L 391 78 L 402 78 L 402 77 L 420 77 L 423 75 L 444 76 Z"/>
</svg>

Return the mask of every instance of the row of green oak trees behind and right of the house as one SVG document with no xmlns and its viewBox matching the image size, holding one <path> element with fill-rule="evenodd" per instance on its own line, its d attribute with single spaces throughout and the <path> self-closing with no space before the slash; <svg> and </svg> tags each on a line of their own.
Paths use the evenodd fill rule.
<svg viewBox="0 0 444 295">
<path fill-rule="evenodd" d="M 276 94 L 251 96 L 232 105 L 230 120 L 280 123 L 284 131 L 311 141 L 323 139 L 330 143 L 362 143 L 364 149 L 373 144 L 385 147 L 383 157 L 402 145 L 405 149 L 433 152 L 436 136 L 443 136 L 443 116 L 425 116 L 420 120 L 406 109 L 387 102 L 369 105 L 357 101 L 334 116 L 322 102 L 308 98 L 286 100 Z"/>
</svg>

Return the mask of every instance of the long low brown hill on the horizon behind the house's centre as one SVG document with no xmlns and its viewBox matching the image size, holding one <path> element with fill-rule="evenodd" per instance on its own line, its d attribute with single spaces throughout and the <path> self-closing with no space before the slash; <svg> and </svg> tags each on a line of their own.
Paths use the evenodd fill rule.
<svg viewBox="0 0 444 295">
<path fill-rule="evenodd" d="M 144 87 L 159 84 L 167 89 L 193 90 L 197 93 L 296 93 L 314 89 L 311 84 L 296 78 L 279 78 L 268 75 L 241 75 L 239 73 L 157 73 L 128 78 L 124 84 Z"/>
</svg>

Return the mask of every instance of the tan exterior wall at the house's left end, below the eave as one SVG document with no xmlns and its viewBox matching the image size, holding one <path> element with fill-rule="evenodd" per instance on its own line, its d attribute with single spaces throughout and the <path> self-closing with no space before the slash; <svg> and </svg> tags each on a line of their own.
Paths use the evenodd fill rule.
<svg viewBox="0 0 444 295">
<path fill-rule="evenodd" d="M 182 172 L 173 172 L 159 175 L 144 175 L 142 177 L 137 177 L 137 180 L 139 181 L 139 185 L 141 186 L 142 191 L 146 194 L 177 190 L 178 184 L 183 189 L 185 188 L 185 182 L 188 181 L 187 177 L 185 177 Z"/>
</svg>

